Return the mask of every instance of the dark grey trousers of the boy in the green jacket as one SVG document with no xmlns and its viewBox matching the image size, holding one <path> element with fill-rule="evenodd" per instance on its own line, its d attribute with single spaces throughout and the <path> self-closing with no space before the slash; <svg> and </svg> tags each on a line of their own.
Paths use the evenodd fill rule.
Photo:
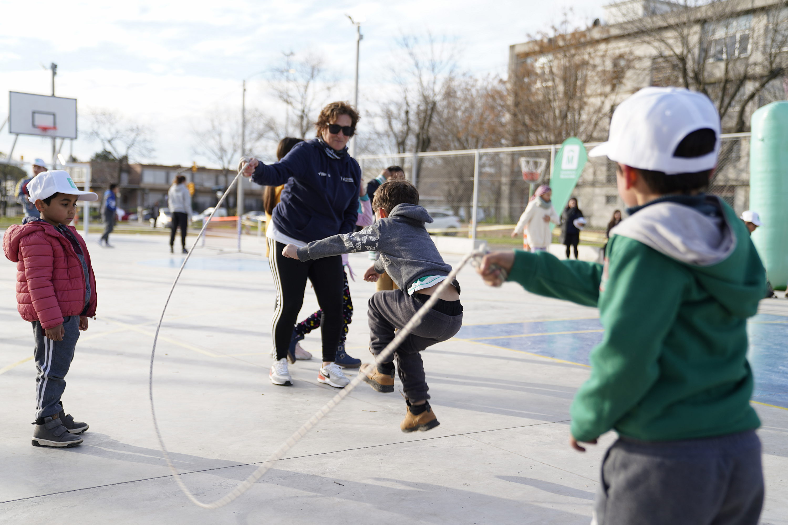
<svg viewBox="0 0 788 525">
<path fill-rule="evenodd" d="M 755 431 L 642 442 L 621 437 L 602 462 L 599 525 L 756 525 L 764 502 Z"/>
</svg>

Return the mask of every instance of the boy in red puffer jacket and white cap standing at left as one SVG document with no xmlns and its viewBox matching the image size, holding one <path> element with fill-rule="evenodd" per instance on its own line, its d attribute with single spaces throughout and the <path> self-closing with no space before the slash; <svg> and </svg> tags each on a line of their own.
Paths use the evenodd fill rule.
<svg viewBox="0 0 788 525">
<path fill-rule="evenodd" d="M 34 446 L 67 448 L 82 442 L 87 424 L 65 414 L 60 397 L 80 330 L 95 316 L 96 284 L 91 257 L 76 228 L 76 201 L 99 196 L 80 191 L 68 172 L 43 172 L 28 183 L 41 218 L 26 217 L 3 236 L 6 257 L 17 263 L 17 303 L 35 338 Z"/>
</svg>

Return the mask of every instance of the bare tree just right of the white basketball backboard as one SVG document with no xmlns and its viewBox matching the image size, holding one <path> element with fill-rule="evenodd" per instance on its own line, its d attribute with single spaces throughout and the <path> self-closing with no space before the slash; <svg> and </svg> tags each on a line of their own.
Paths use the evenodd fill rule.
<svg viewBox="0 0 788 525">
<path fill-rule="evenodd" d="M 91 123 L 88 136 L 101 142 L 102 149 L 117 161 L 115 183 L 121 183 L 121 172 L 132 157 L 150 157 L 154 151 L 152 131 L 144 124 L 110 109 L 94 109 L 88 113 Z"/>
</svg>

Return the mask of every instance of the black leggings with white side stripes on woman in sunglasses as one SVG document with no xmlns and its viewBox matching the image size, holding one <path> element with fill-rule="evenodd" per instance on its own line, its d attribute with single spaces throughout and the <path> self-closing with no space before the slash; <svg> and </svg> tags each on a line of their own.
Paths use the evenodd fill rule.
<svg viewBox="0 0 788 525">
<path fill-rule="evenodd" d="M 324 257 L 301 262 L 282 255 L 284 244 L 268 239 L 268 262 L 277 287 L 277 309 L 273 312 L 273 345 L 277 359 L 288 356 L 293 325 L 303 305 L 307 278 L 312 282 L 318 305 L 322 309 L 320 332 L 323 340 L 323 360 L 336 360 L 336 346 L 344 327 L 342 319 L 344 279 L 342 256 Z"/>
</svg>

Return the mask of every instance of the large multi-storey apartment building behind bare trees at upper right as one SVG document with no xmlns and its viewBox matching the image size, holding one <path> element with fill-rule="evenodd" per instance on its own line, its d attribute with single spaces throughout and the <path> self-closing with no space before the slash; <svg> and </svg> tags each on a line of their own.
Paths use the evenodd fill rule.
<svg viewBox="0 0 788 525">
<path fill-rule="evenodd" d="M 532 99 L 554 100 L 565 106 L 559 115 L 565 118 L 556 124 L 552 140 L 578 135 L 586 142 L 601 141 L 624 98 L 642 87 L 678 86 L 709 95 L 723 115 L 723 133 L 749 131 L 755 109 L 786 99 L 786 6 L 788 2 L 777 0 L 724 0 L 694 8 L 664 0 L 610 4 L 604 19 L 594 20 L 584 31 L 510 46 L 512 119 L 515 124 L 527 120 Z M 526 110 L 518 113 L 521 107 Z M 547 127 L 559 119 L 556 115 L 544 120 Z M 533 123 L 536 128 L 541 120 L 533 118 Z M 536 142 L 530 143 L 547 143 L 539 142 L 537 134 L 533 137 Z M 531 141 L 533 137 L 529 135 Z M 747 208 L 748 137 L 723 142 L 710 192 L 737 212 Z M 604 159 L 589 160 L 575 194 L 595 227 L 603 227 L 615 209 L 623 209 L 615 189 L 615 165 Z"/>
</svg>

